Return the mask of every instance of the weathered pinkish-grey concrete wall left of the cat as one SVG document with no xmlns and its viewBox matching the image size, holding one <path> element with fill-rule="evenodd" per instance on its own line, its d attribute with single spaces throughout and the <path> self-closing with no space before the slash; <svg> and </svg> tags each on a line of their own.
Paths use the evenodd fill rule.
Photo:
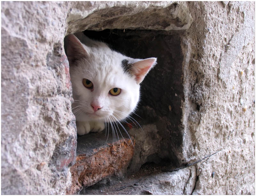
<svg viewBox="0 0 256 196">
<path fill-rule="evenodd" d="M 1 4 L 1 193 L 65 194 L 76 158 L 65 4 Z"/>
</svg>

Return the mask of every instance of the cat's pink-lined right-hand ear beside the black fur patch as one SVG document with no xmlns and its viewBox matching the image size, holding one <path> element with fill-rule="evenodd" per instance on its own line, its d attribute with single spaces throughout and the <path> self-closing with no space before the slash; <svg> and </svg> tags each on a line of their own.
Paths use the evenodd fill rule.
<svg viewBox="0 0 256 196">
<path fill-rule="evenodd" d="M 149 70 L 156 65 L 156 58 L 148 58 L 132 63 L 131 72 L 135 75 L 137 84 L 143 81 Z"/>
</svg>

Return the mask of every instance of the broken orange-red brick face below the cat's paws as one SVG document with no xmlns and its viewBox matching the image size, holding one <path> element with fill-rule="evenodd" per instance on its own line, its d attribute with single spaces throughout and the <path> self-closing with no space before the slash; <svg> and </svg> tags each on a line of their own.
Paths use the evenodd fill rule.
<svg viewBox="0 0 256 196">
<path fill-rule="evenodd" d="M 134 138 L 132 142 L 135 144 Z M 120 139 L 92 149 L 92 155 L 77 155 L 75 165 L 70 168 L 72 185 L 67 194 L 77 194 L 83 187 L 91 186 L 106 176 L 122 173 L 133 157 L 132 142 L 128 138 Z"/>
</svg>

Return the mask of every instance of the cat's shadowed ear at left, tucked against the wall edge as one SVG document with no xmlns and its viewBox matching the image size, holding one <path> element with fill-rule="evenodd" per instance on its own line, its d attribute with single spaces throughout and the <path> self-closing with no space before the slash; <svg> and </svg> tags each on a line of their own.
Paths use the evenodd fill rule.
<svg viewBox="0 0 256 196">
<path fill-rule="evenodd" d="M 67 44 L 66 54 L 68 57 L 69 65 L 72 65 L 78 59 L 88 59 L 90 49 L 79 41 L 75 35 L 67 35 L 65 37 Z"/>
</svg>

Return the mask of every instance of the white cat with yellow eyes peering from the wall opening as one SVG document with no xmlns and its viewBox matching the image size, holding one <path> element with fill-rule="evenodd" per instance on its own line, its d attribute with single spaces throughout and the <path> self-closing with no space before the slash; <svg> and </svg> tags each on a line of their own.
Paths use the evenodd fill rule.
<svg viewBox="0 0 256 196">
<path fill-rule="evenodd" d="M 75 36 L 76 35 L 76 36 Z M 78 135 L 102 131 L 105 123 L 121 121 L 140 99 L 140 82 L 156 58 L 132 59 L 83 33 L 65 39 Z M 81 42 L 82 43 L 81 43 Z"/>
</svg>

